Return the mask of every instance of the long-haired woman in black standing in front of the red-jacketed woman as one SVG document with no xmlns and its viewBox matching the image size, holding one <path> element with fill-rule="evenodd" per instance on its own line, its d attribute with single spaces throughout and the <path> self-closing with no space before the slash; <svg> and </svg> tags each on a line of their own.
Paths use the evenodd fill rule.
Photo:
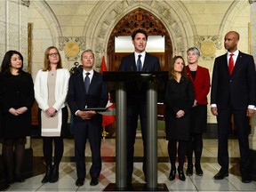
<svg viewBox="0 0 256 192">
<path fill-rule="evenodd" d="M 187 76 L 185 62 L 181 56 L 175 56 L 170 66 L 164 102 L 166 106 L 166 140 L 169 140 L 168 153 L 172 167 L 169 180 L 175 179 L 177 150 L 179 179 L 186 180 L 183 164 L 188 147 L 190 110 L 193 102 L 193 85 Z"/>
</svg>

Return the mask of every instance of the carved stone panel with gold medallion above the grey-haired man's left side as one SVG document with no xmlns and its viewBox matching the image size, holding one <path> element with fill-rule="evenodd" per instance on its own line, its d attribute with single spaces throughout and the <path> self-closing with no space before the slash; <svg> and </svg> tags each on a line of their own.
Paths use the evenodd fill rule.
<svg viewBox="0 0 256 192">
<path fill-rule="evenodd" d="M 67 60 L 73 61 L 79 58 L 80 50 L 85 49 L 84 36 L 60 36 L 59 49 L 65 52 Z"/>
</svg>

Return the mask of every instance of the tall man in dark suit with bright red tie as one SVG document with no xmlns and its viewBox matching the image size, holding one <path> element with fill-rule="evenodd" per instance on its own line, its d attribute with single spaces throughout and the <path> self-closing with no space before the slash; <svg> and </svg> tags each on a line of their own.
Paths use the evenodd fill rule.
<svg viewBox="0 0 256 192">
<path fill-rule="evenodd" d="M 249 183 L 249 117 L 254 114 L 256 78 L 253 57 L 237 50 L 238 41 L 236 31 L 228 32 L 224 39 L 228 53 L 216 58 L 213 67 L 211 111 L 213 116 L 217 116 L 218 162 L 221 166 L 214 179 L 228 177 L 228 134 L 233 114 L 239 140 L 242 181 Z"/>
</svg>

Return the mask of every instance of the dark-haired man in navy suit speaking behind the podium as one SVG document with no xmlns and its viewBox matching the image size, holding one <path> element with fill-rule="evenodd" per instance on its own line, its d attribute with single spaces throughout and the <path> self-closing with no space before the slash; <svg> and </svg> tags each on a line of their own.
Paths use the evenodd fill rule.
<svg viewBox="0 0 256 192">
<path fill-rule="evenodd" d="M 132 34 L 134 52 L 123 58 L 119 71 L 160 71 L 159 59 L 145 52 L 148 34 L 138 29 Z M 127 183 L 132 182 L 133 155 L 138 117 L 143 140 L 143 172 L 146 175 L 146 88 L 147 84 L 129 83 L 127 86 Z"/>
</svg>

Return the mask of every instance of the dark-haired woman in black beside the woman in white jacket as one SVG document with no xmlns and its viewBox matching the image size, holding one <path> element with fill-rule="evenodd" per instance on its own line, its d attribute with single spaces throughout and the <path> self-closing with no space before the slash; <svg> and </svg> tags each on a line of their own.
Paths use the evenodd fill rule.
<svg viewBox="0 0 256 192">
<path fill-rule="evenodd" d="M 31 108 L 35 100 L 33 79 L 22 68 L 23 57 L 20 52 L 11 50 L 5 53 L 0 72 L 0 108 L 4 167 L 9 184 L 24 181 L 20 169 L 26 136 L 30 135 Z"/>
</svg>

